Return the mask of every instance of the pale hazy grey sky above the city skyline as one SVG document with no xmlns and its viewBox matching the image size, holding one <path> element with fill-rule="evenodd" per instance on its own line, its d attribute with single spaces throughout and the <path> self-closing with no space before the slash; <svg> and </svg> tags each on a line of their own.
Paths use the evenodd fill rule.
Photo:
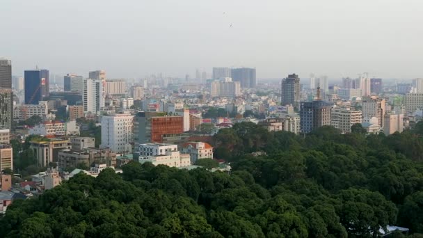
<svg viewBox="0 0 423 238">
<path fill-rule="evenodd" d="M 13 74 L 423 77 L 422 0 L 1 0 Z M 225 14 L 223 14 L 225 12 Z M 232 27 L 230 27 L 232 24 Z"/>
</svg>

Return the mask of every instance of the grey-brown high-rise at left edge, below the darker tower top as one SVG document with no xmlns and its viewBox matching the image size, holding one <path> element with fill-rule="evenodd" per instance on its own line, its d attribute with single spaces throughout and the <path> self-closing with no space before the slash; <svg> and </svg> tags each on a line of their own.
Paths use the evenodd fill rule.
<svg viewBox="0 0 423 238">
<path fill-rule="evenodd" d="M 0 69 L 1 69 L 1 65 L 0 65 Z M 1 78 L 1 75 L 0 75 L 0 78 Z M 13 121 L 12 89 L 0 88 L 0 129 L 12 130 L 12 121 Z"/>
</svg>

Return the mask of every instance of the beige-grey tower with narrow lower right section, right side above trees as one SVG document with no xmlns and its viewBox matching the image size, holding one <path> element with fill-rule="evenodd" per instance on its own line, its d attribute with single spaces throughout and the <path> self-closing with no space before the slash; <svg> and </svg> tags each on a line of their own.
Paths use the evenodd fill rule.
<svg viewBox="0 0 423 238">
<path fill-rule="evenodd" d="M 362 117 L 364 120 L 377 118 L 379 127 L 383 128 L 385 100 L 378 97 L 367 97 L 362 100 Z"/>
</svg>

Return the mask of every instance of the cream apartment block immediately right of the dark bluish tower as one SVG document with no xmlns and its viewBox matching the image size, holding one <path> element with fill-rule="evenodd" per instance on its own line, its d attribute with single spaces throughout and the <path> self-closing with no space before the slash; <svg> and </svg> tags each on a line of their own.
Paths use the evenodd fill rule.
<svg viewBox="0 0 423 238">
<path fill-rule="evenodd" d="M 362 112 L 335 107 L 330 111 L 330 125 L 343 133 L 350 133 L 351 127 L 362 123 Z"/>
</svg>

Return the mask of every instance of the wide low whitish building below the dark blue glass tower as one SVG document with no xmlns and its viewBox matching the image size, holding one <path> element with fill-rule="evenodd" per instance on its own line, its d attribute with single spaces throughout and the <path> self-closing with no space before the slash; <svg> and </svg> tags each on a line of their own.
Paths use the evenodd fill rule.
<svg viewBox="0 0 423 238">
<path fill-rule="evenodd" d="M 77 136 L 79 135 L 79 126 L 75 120 L 70 122 L 42 122 L 35 127 L 29 128 L 29 134 L 42 136 Z"/>
</svg>

